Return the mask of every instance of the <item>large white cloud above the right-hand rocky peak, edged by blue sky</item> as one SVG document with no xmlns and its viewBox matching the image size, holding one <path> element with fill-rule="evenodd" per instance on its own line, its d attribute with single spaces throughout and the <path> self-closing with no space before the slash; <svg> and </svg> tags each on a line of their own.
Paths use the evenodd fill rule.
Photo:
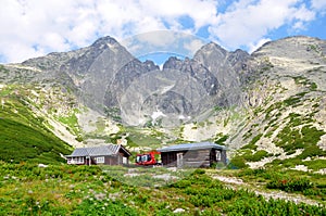
<svg viewBox="0 0 326 216">
<path fill-rule="evenodd" d="M 240 0 L 224 14 L 218 14 L 209 31 L 227 48 L 236 49 L 250 46 L 264 38 L 269 31 L 284 25 L 300 22 L 294 27 L 302 28 L 304 23 L 314 18 L 304 4 L 297 0 Z"/>
</svg>

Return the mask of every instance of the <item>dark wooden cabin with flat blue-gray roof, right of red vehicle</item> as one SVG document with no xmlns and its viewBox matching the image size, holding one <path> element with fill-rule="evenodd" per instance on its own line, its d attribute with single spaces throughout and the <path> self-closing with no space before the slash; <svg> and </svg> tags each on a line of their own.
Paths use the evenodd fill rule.
<svg viewBox="0 0 326 216">
<path fill-rule="evenodd" d="M 213 163 L 226 164 L 226 148 L 212 142 L 183 143 L 158 150 L 163 166 L 210 167 Z"/>
</svg>

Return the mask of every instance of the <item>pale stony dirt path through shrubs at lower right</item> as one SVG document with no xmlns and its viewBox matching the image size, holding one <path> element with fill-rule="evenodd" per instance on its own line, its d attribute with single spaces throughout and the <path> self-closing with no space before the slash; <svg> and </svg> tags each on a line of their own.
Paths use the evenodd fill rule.
<svg viewBox="0 0 326 216">
<path fill-rule="evenodd" d="M 305 203 L 309 205 L 319 205 L 317 201 L 310 200 L 308 198 L 304 198 L 300 194 L 293 194 L 293 193 L 287 193 L 285 191 L 275 191 L 275 190 L 268 190 L 268 189 L 262 189 L 260 185 L 252 186 L 250 183 L 243 182 L 240 178 L 235 177 L 226 177 L 226 176 L 218 176 L 216 174 L 211 175 L 213 179 L 218 179 L 226 183 L 227 187 L 231 189 L 248 189 L 249 191 L 254 192 L 258 195 L 264 196 L 266 200 L 269 200 L 271 198 L 274 200 L 281 199 L 287 201 L 292 201 L 294 203 Z"/>
</svg>

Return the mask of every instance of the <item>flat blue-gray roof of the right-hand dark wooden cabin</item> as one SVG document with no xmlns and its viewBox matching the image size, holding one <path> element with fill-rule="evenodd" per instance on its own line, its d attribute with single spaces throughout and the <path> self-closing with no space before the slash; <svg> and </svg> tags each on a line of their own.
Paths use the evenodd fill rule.
<svg viewBox="0 0 326 216">
<path fill-rule="evenodd" d="M 159 152 L 176 152 L 176 151 L 189 151 L 189 150 L 202 150 L 202 149 L 216 149 L 226 150 L 226 147 L 215 144 L 213 142 L 196 142 L 196 143 L 183 143 L 159 149 Z"/>
</svg>

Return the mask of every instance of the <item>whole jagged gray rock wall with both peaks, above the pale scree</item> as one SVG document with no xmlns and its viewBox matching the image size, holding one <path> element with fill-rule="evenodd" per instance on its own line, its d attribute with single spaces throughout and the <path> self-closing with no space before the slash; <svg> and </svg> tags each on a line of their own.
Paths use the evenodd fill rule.
<svg viewBox="0 0 326 216">
<path fill-rule="evenodd" d="M 196 118 L 214 106 L 240 104 L 248 59 L 244 51 L 228 52 L 209 43 L 193 59 L 170 58 L 160 71 L 151 61 L 135 59 L 108 36 L 87 48 L 50 53 L 16 67 L 29 69 L 29 81 L 61 84 L 87 106 L 102 114 L 114 111 L 124 123 L 155 120 L 151 116 L 162 112 L 166 123 L 179 124 L 179 118 Z"/>
</svg>

